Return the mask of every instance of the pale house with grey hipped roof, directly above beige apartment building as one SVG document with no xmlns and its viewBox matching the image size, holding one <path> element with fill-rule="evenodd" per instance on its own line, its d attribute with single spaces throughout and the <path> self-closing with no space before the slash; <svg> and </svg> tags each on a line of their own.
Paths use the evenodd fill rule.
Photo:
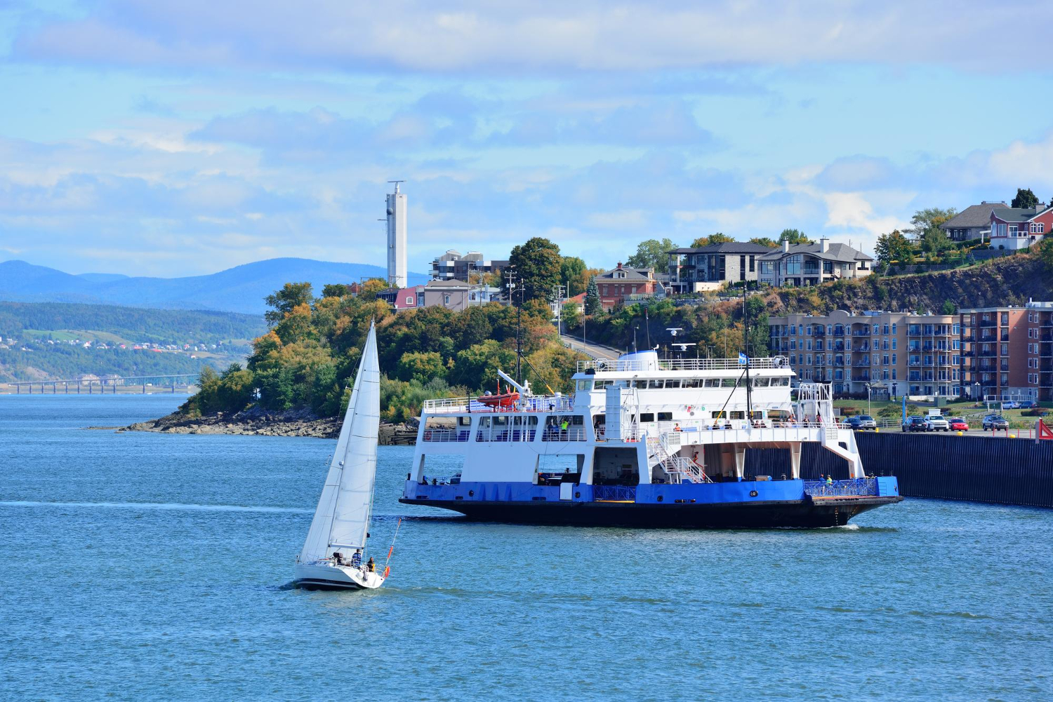
<svg viewBox="0 0 1053 702">
<path fill-rule="evenodd" d="M 758 280 L 769 285 L 818 285 L 841 278 L 865 278 L 874 259 L 848 244 L 819 239 L 814 244 L 782 242 L 758 261 Z"/>
</svg>

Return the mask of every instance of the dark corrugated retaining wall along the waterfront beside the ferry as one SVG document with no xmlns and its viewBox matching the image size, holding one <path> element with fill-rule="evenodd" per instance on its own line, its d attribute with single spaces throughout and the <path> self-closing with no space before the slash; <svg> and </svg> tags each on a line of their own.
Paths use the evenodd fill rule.
<svg viewBox="0 0 1053 702">
<path fill-rule="evenodd" d="M 1053 441 L 959 437 L 953 434 L 856 432 L 868 475 L 896 476 L 906 497 L 1053 507 Z M 750 475 L 787 472 L 787 448 L 749 449 Z M 848 478 L 848 462 L 816 443 L 801 450 L 801 477 Z"/>
</svg>

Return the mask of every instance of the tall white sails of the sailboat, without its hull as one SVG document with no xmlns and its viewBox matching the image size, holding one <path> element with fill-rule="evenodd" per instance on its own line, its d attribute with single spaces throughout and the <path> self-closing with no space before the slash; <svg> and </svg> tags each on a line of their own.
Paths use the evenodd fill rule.
<svg viewBox="0 0 1053 702">
<path fill-rule="evenodd" d="M 329 558 L 339 548 L 365 546 L 379 424 L 380 369 L 376 329 L 371 325 L 325 485 L 300 551 L 301 563 Z"/>
</svg>

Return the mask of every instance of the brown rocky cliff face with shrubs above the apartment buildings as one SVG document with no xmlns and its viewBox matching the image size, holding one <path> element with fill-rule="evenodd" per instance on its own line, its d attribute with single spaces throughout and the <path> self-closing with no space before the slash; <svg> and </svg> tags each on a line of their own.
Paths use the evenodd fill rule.
<svg viewBox="0 0 1053 702">
<path fill-rule="evenodd" d="M 1053 275 L 1033 256 L 1007 257 L 956 270 L 778 290 L 767 302 L 769 313 L 779 315 L 832 309 L 920 308 L 938 313 L 948 300 L 955 308 L 963 308 L 1022 305 L 1029 299 L 1053 300 Z"/>
</svg>

